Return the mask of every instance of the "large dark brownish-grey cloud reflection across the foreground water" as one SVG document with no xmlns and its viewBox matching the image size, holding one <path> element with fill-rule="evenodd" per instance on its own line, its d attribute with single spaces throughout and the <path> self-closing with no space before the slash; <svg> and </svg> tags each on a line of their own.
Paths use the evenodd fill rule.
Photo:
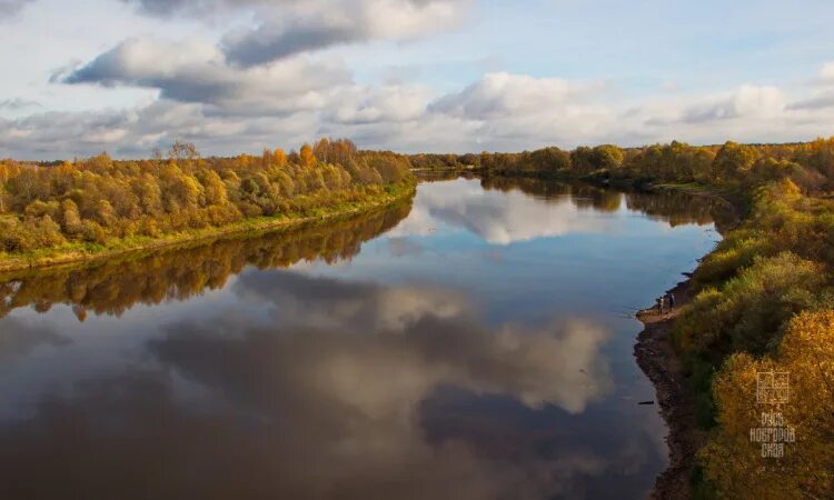
<svg viewBox="0 0 834 500">
<path fill-rule="evenodd" d="M 147 342 L 153 362 L 81 380 L 3 426 L 12 496 L 37 483 L 42 498 L 537 498 L 612 460 L 582 442 L 490 457 L 480 448 L 505 444 L 425 439 L 447 417 L 441 388 L 582 412 L 612 389 L 599 326 L 493 331 L 453 292 L 284 271 L 245 272 L 234 291 L 267 314 L 163 326 Z"/>
</svg>

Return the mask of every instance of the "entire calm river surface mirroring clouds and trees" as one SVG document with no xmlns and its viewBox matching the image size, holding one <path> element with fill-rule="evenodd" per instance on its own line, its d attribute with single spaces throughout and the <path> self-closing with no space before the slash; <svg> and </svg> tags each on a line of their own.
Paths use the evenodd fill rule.
<svg viewBox="0 0 834 500">
<path fill-rule="evenodd" d="M 705 201 L 419 186 L 287 233 L 0 277 L 2 498 L 643 498 L 634 309 Z"/>
</svg>

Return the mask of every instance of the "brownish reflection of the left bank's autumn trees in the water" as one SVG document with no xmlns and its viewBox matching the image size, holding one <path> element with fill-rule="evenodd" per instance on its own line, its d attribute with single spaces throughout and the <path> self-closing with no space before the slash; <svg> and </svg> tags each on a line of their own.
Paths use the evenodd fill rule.
<svg viewBox="0 0 834 500">
<path fill-rule="evenodd" d="M 27 306 L 48 312 L 54 303 L 73 306 L 80 321 L 88 311 L 120 316 L 136 303 L 188 300 L 221 289 L 247 266 L 268 269 L 316 259 L 350 260 L 364 241 L 395 227 L 410 209 L 406 202 L 325 226 L 131 254 L 92 266 L 0 274 L 0 318 Z"/>
</svg>

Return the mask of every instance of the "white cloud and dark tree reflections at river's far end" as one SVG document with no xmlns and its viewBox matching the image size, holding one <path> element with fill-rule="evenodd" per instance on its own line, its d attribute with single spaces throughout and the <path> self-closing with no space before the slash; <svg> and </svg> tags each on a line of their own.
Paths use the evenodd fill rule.
<svg viewBox="0 0 834 500">
<path fill-rule="evenodd" d="M 533 194 L 533 197 L 528 196 Z M 420 191 L 411 216 L 396 234 L 426 236 L 441 223 L 466 228 L 492 244 L 509 244 L 577 232 L 610 232 L 620 210 L 678 224 L 707 224 L 716 201 L 676 192 L 628 193 L 538 179 L 486 178 L 439 182 Z"/>
</svg>

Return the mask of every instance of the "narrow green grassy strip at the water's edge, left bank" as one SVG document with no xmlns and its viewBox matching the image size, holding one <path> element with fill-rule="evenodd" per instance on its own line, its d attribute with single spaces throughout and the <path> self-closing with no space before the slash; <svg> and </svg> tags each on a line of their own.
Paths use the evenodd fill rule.
<svg viewBox="0 0 834 500">
<path fill-rule="evenodd" d="M 388 192 L 380 193 L 374 200 L 344 203 L 319 209 L 315 216 L 306 217 L 261 217 L 247 219 L 234 224 L 219 228 L 206 228 L 178 233 L 166 234 L 160 238 L 135 238 L 131 240 L 113 240 L 105 246 L 72 246 L 40 250 L 26 256 L 0 253 L 0 272 L 21 269 L 36 269 L 50 266 L 69 264 L 85 261 L 107 259 L 125 253 L 147 250 L 158 250 L 183 243 L 216 240 L 218 238 L 239 236 L 244 233 L 271 232 L 290 229 L 315 221 L 334 220 L 348 217 L 376 208 L 387 207 L 416 192 L 416 184 L 398 186 Z"/>
</svg>

